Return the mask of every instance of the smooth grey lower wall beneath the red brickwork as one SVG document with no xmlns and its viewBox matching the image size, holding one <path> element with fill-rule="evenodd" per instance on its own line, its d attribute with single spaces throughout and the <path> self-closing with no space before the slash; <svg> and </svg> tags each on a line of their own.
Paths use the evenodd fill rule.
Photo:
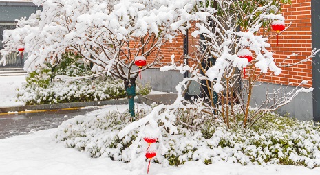
<svg viewBox="0 0 320 175">
<path fill-rule="evenodd" d="M 142 79 L 138 82 L 145 84 L 149 82 L 156 91 L 176 93 L 175 86 L 183 80 L 183 75 L 179 71 L 160 72 L 159 69 L 147 69 L 142 72 Z M 266 91 L 273 91 L 279 88 L 286 89 L 286 92 L 294 89 L 294 86 L 280 86 L 279 84 L 259 83 L 259 86 L 253 88 L 253 98 L 250 106 L 262 104 L 266 98 Z M 190 95 L 199 94 L 199 86 L 194 83 L 189 90 Z M 284 115 L 290 113 L 290 117 L 300 120 L 312 120 L 312 93 L 300 93 L 289 104 L 282 106 L 277 110 L 278 113 Z"/>
</svg>

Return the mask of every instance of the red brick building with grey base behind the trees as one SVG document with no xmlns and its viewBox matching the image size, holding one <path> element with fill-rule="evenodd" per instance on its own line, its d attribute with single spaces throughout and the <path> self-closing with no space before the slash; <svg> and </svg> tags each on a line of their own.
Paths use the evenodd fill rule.
<svg viewBox="0 0 320 175">
<path fill-rule="evenodd" d="M 270 51 L 274 53 L 276 62 L 282 62 L 284 58 L 292 53 L 299 53 L 299 56 L 292 56 L 286 63 L 294 64 L 311 55 L 313 48 L 320 48 L 320 1 L 319 0 L 292 0 L 291 5 L 282 5 L 282 14 L 285 18 L 286 27 L 290 27 L 279 35 L 279 45 L 275 32 L 270 38 Z M 193 43 L 189 34 L 189 43 Z M 177 60 L 182 61 L 183 40 L 178 38 L 173 43 L 166 45 L 162 49 L 162 54 L 171 62 L 171 54 L 175 54 Z M 189 50 L 190 50 L 189 46 Z M 279 76 L 267 73 L 259 80 L 262 86 L 254 89 L 252 106 L 259 104 L 266 95 L 267 89 L 277 89 L 281 84 L 288 85 L 288 91 L 294 89 L 301 81 L 307 80 L 308 84 L 303 87 L 313 87 L 312 93 L 301 93 L 290 104 L 279 108 L 281 114 L 290 113 L 291 117 L 298 119 L 320 120 L 320 56 L 302 62 L 292 67 L 281 67 L 282 72 Z M 145 79 L 142 82 L 150 81 L 153 87 L 160 91 L 175 91 L 174 84 L 182 80 L 183 76 L 175 71 L 166 72 L 164 75 L 156 69 L 144 72 Z M 146 78 L 149 76 L 149 78 Z M 157 81 L 153 81 L 156 79 Z M 164 84 L 170 84 L 164 85 Z M 173 85 L 173 86 L 172 86 Z M 193 84 L 189 93 L 198 94 L 199 85 Z"/>
</svg>

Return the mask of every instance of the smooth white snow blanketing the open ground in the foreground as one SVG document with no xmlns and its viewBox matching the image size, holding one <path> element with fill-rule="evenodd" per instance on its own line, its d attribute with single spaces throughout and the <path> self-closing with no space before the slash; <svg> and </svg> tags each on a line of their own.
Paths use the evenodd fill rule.
<svg viewBox="0 0 320 175">
<path fill-rule="evenodd" d="M 84 152 L 73 148 L 64 148 L 56 143 L 54 132 L 57 129 L 41 130 L 30 135 L 21 135 L 0 140 L 1 174 L 147 174 L 147 161 L 139 159 L 136 163 L 122 163 L 106 158 L 92 159 Z M 149 174 L 156 175 L 194 175 L 194 174 L 290 174 L 318 175 L 320 168 L 308 169 L 289 165 L 240 165 L 217 161 L 204 165 L 200 161 L 187 162 L 179 167 L 162 167 L 151 163 Z"/>
</svg>

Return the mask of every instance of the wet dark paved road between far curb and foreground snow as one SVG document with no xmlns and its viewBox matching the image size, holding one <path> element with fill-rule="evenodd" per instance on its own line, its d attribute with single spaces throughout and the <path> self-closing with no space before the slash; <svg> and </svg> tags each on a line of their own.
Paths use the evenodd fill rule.
<svg viewBox="0 0 320 175">
<path fill-rule="evenodd" d="M 92 110 L 95 108 L 0 115 L 0 139 L 56 128 L 62 121 Z"/>
</svg>

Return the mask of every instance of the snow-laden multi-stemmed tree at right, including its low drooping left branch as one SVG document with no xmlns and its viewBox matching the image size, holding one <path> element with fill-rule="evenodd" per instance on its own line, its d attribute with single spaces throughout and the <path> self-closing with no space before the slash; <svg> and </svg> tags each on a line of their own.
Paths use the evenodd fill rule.
<svg viewBox="0 0 320 175">
<path fill-rule="evenodd" d="M 277 34 L 270 30 L 271 24 L 274 21 L 284 21 L 284 16 L 281 16 L 281 3 L 290 1 L 198 0 L 186 5 L 189 10 L 184 8 L 178 21 L 171 24 L 171 27 L 173 30 L 182 31 L 185 27 L 192 30 L 190 24 L 194 24 L 195 29 L 191 35 L 195 39 L 199 37 L 200 42 L 198 51 L 190 54 L 189 58 L 195 60 L 196 64 L 176 65 L 173 59 L 172 65 L 162 67 L 160 71 L 189 71 L 191 76 L 178 84 L 178 98 L 174 104 L 153 108 L 153 112 L 147 117 L 122 130 L 120 137 L 132 128 L 145 126 L 148 122 L 156 127 L 158 121 L 169 128 L 170 133 L 177 131 L 176 124 L 196 129 L 204 122 L 222 121 L 227 127 L 232 125 L 245 128 L 254 124 L 268 111 L 288 104 L 298 93 L 312 91 L 312 88 L 297 86 L 288 92 L 281 87 L 267 92 L 266 100 L 257 108 L 249 110 L 253 87 L 259 86 L 259 78 L 266 73 L 279 75 L 281 67 L 290 66 L 275 62 L 273 53 L 269 51 L 268 39 Z M 189 23 L 182 25 L 186 21 Z M 310 57 L 316 52 L 310 53 Z M 208 101 L 184 101 L 184 93 L 191 81 L 197 81 L 204 87 Z M 237 83 L 239 81 L 242 85 Z M 304 83 L 306 82 L 301 82 L 301 85 Z M 190 115 L 191 113 L 194 115 Z M 191 117 L 182 119 L 182 116 L 186 115 Z"/>
</svg>

